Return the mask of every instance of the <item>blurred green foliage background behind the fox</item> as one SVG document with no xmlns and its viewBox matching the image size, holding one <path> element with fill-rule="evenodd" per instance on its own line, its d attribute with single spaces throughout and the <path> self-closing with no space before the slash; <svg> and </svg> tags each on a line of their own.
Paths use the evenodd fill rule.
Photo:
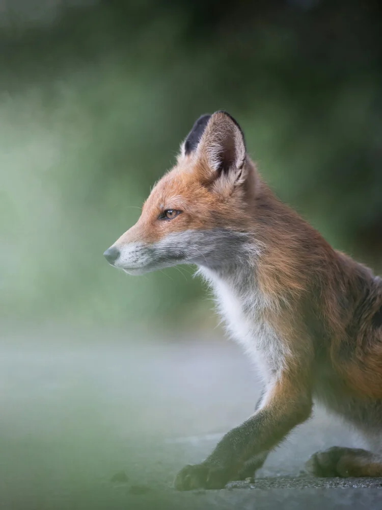
<svg viewBox="0 0 382 510">
<path fill-rule="evenodd" d="M 132 225 L 202 113 L 228 110 L 278 195 L 382 253 L 381 7 L 368 0 L 14 0 L 0 10 L 0 314 L 192 324 L 192 270 L 126 277 Z M 3 321 L 4 322 L 4 321 Z"/>
</svg>

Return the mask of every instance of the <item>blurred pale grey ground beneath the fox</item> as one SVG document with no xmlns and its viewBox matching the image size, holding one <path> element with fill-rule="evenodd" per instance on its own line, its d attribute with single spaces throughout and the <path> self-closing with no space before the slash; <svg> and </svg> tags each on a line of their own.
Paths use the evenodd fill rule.
<svg viewBox="0 0 382 510">
<path fill-rule="evenodd" d="M 255 484 L 174 491 L 176 472 L 252 413 L 260 385 L 233 343 L 163 336 L 3 334 L 2 508 L 382 508 L 382 479 L 300 473 L 318 449 L 362 445 L 318 409 Z"/>
</svg>

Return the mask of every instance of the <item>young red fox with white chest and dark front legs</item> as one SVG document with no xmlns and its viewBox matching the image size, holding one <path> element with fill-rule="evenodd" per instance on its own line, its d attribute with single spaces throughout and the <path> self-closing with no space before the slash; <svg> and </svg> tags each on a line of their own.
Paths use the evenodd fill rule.
<svg viewBox="0 0 382 510">
<path fill-rule="evenodd" d="M 318 451 L 306 470 L 382 476 L 382 278 L 277 198 L 229 113 L 195 122 L 137 223 L 104 256 L 132 275 L 196 265 L 261 374 L 255 412 L 203 462 L 185 466 L 176 489 L 253 477 L 314 403 L 356 428 L 370 449 Z"/>
</svg>

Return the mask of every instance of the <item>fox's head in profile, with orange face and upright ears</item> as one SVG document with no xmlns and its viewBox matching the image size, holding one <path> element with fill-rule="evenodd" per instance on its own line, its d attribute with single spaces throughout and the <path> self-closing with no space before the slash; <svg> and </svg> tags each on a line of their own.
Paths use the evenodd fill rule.
<svg viewBox="0 0 382 510">
<path fill-rule="evenodd" d="M 232 264 L 248 242 L 255 188 L 255 167 L 238 123 L 224 111 L 203 115 L 138 222 L 104 256 L 129 274 L 176 264 Z"/>
</svg>

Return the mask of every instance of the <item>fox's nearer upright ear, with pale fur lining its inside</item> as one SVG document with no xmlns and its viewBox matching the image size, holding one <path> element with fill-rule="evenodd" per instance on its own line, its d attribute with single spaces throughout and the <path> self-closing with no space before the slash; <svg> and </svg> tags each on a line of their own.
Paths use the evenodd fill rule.
<svg viewBox="0 0 382 510">
<path fill-rule="evenodd" d="M 247 154 L 244 135 L 229 113 L 219 111 L 211 115 L 196 154 L 205 171 L 213 172 L 210 178 L 226 176 L 230 182 L 235 182 L 242 177 Z"/>
</svg>

